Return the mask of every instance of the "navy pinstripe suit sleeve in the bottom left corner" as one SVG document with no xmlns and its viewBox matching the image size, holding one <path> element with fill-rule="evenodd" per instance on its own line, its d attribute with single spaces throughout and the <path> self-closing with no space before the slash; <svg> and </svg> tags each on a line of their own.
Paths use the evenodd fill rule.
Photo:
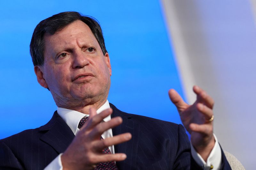
<svg viewBox="0 0 256 170">
<path fill-rule="evenodd" d="M 24 168 L 20 165 L 19 160 L 12 153 L 11 149 L 0 142 L 0 170 L 23 170 Z"/>
</svg>

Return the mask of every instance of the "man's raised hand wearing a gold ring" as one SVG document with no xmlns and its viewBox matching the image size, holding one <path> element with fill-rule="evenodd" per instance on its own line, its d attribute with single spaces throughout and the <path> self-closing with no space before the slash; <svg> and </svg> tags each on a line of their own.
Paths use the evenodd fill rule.
<svg viewBox="0 0 256 170">
<path fill-rule="evenodd" d="M 194 86 L 197 99 L 193 105 L 188 105 L 173 89 L 169 97 L 177 107 L 184 127 L 191 135 L 191 143 L 201 157 L 206 161 L 215 144 L 213 137 L 213 99 L 200 87 Z"/>
</svg>

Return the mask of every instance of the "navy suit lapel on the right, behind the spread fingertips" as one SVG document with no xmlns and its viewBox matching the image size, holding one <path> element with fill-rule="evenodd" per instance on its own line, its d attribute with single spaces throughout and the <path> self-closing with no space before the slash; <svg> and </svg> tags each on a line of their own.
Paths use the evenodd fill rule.
<svg viewBox="0 0 256 170">
<path fill-rule="evenodd" d="M 116 162 L 116 165 L 119 169 L 136 169 L 140 125 L 132 120 L 132 116 L 126 115 L 114 105 L 110 104 L 110 107 L 113 109 L 111 118 L 121 116 L 123 119 L 121 125 L 112 129 L 113 136 L 126 132 L 132 134 L 132 139 L 130 141 L 114 146 L 115 153 L 125 153 L 127 155 L 127 158 L 124 161 Z"/>
</svg>

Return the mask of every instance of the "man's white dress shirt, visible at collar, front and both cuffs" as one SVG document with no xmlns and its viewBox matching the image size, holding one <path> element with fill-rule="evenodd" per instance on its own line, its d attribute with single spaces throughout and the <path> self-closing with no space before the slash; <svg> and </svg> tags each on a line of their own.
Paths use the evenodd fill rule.
<svg viewBox="0 0 256 170">
<path fill-rule="evenodd" d="M 110 108 L 110 106 L 109 106 L 109 102 L 107 100 L 96 112 L 97 112 L 97 114 L 99 114 L 100 112 L 102 112 L 103 110 L 108 109 L 108 108 Z M 70 110 L 70 109 L 61 108 L 61 107 L 57 108 L 57 112 L 60 115 L 60 117 L 67 123 L 67 125 L 72 130 L 74 135 L 76 135 L 79 131 L 78 124 L 79 124 L 80 120 L 84 116 L 89 116 L 89 115 L 77 112 L 75 110 Z M 110 119 L 111 119 L 111 116 L 109 115 L 105 119 L 103 119 L 103 121 L 108 122 Z M 103 139 L 108 138 L 108 137 L 113 137 L 112 129 L 108 129 L 101 136 Z M 218 170 L 220 167 L 221 149 L 220 149 L 220 145 L 219 145 L 218 140 L 215 135 L 214 135 L 214 138 L 215 138 L 215 145 L 214 145 L 212 152 L 210 153 L 206 162 L 196 152 L 196 150 L 194 149 L 194 147 L 191 144 L 192 157 L 196 161 L 196 163 L 199 166 L 201 166 L 204 170 L 209 170 L 211 165 L 213 165 L 213 170 Z M 115 153 L 114 145 L 109 146 L 109 150 L 111 151 L 111 153 Z M 62 163 L 61 163 L 61 155 L 62 155 L 62 153 L 59 154 L 46 168 L 44 168 L 44 170 L 62 170 L 63 167 L 62 167 Z"/>
</svg>

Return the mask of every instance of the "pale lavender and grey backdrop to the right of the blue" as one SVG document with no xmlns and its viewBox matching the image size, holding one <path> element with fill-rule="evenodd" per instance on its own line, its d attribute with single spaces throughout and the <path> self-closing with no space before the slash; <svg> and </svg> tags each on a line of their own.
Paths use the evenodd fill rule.
<svg viewBox="0 0 256 170">
<path fill-rule="evenodd" d="M 195 99 L 193 84 L 214 98 L 214 133 L 246 169 L 255 169 L 256 151 L 252 2 L 162 0 L 188 101 Z"/>
</svg>

